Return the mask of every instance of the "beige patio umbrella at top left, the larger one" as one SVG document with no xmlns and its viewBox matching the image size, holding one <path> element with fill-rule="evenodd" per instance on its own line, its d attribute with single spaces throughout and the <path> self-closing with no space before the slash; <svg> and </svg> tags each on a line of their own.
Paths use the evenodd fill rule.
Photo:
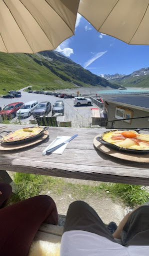
<svg viewBox="0 0 149 256">
<path fill-rule="evenodd" d="M 79 0 L 0 0 L 0 52 L 55 49 L 74 34 Z"/>
</svg>

